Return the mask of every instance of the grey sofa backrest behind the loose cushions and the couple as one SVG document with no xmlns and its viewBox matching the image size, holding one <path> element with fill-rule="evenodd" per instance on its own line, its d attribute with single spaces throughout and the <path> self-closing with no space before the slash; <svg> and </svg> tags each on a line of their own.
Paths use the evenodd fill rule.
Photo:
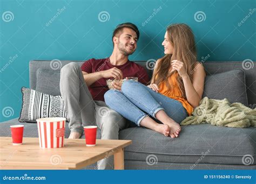
<svg viewBox="0 0 256 184">
<path fill-rule="evenodd" d="M 70 63 L 70 62 L 78 62 L 81 66 L 84 61 L 50 61 L 50 60 L 32 60 L 29 63 L 29 73 L 30 73 L 30 88 L 36 89 L 37 83 L 37 70 L 41 69 L 49 69 L 55 70 L 56 72 L 60 71 L 60 69 Z M 149 76 L 152 76 L 151 69 L 147 69 L 146 61 L 135 61 L 139 65 L 142 65 L 146 70 Z M 254 62 L 255 63 L 255 62 Z M 256 64 L 256 63 L 255 63 Z M 256 66 L 251 69 L 244 69 L 242 67 L 242 61 L 211 61 L 203 63 L 206 74 L 213 75 L 217 73 L 227 72 L 233 69 L 242 69 L 245 72 L 246 76 L 246 92 L 248 98 L 248 104 L 250 107 L 255 107 L 256 105 Z M 227 81 L 228 82 L 228 81 Z"/>
</svg>

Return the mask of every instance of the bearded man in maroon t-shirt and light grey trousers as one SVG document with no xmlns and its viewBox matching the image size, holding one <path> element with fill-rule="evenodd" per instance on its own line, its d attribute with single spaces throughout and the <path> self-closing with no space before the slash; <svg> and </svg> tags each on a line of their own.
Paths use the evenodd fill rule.
<svg viewBox="0 0 256 184">
<path fill-rule="evenodd" d="M 109 88 L 107 79 L 138 77 L 146 84 L 149 76 L 146 70 L 128 60 L 137 48 L 139 31 L 132 23 L 120 24 L 113 32 L 113 52 L 109 58 L 90 59 L 80 68 L 75 62 L 60 70 L 60 93 L 62 94 L 71 131 L 69 138 L 80 138 L 83 126 L 97 125 L 102 139 L 118 139 L 119 130 L 127 127 L 126 120 L 107 107 L 104 94 Z M 121 89 L 121 83 L 113 87 Z M 98 169 L 113 168 L 113 157 L 98 162 Z"/>
</svg>

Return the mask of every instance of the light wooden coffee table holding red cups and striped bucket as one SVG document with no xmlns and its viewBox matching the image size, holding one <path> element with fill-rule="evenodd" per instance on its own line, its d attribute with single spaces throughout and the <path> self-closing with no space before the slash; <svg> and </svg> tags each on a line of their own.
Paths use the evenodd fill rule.
<svg viewBox="0 0 256 184">
<path fill-rule="evenodd" d="M 23 138 L 12 145 L 11 137 L 0 137 L 0 169 L 80 169 L 114 155 L 114 169 L 124 169 L 124 147 L 131 140 L 96 140 L 86 147 L 85 139 L 65 139 L 62 148 L 40 148 L 38 138 Z"/>
</svg>

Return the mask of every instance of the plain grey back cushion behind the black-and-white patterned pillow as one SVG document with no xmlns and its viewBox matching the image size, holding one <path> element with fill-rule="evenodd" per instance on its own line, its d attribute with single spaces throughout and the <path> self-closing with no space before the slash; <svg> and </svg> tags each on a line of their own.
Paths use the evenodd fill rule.
<svg viewBox="0 0 256 184">
<path fill-rule="evenodd" d="M 53 95 L 53 96 L 60 95 L 59 70 L 38 68 L 36 77 L 37 77 L 36 91 L 39 91 L 44 94 Z"/>
</svg>

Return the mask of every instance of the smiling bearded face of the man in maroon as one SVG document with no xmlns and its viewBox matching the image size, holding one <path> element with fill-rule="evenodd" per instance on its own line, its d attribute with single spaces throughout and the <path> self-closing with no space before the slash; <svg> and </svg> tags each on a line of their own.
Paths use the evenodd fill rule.
<svg viewBox="0 0 256 184">
<path fill-rule="evenodd" d="M 137 48 L 137 34 L 129 28 L 124 28 L 117 38 L 117 48 L 124 55 L 131 55 Z"/>
</svg>

